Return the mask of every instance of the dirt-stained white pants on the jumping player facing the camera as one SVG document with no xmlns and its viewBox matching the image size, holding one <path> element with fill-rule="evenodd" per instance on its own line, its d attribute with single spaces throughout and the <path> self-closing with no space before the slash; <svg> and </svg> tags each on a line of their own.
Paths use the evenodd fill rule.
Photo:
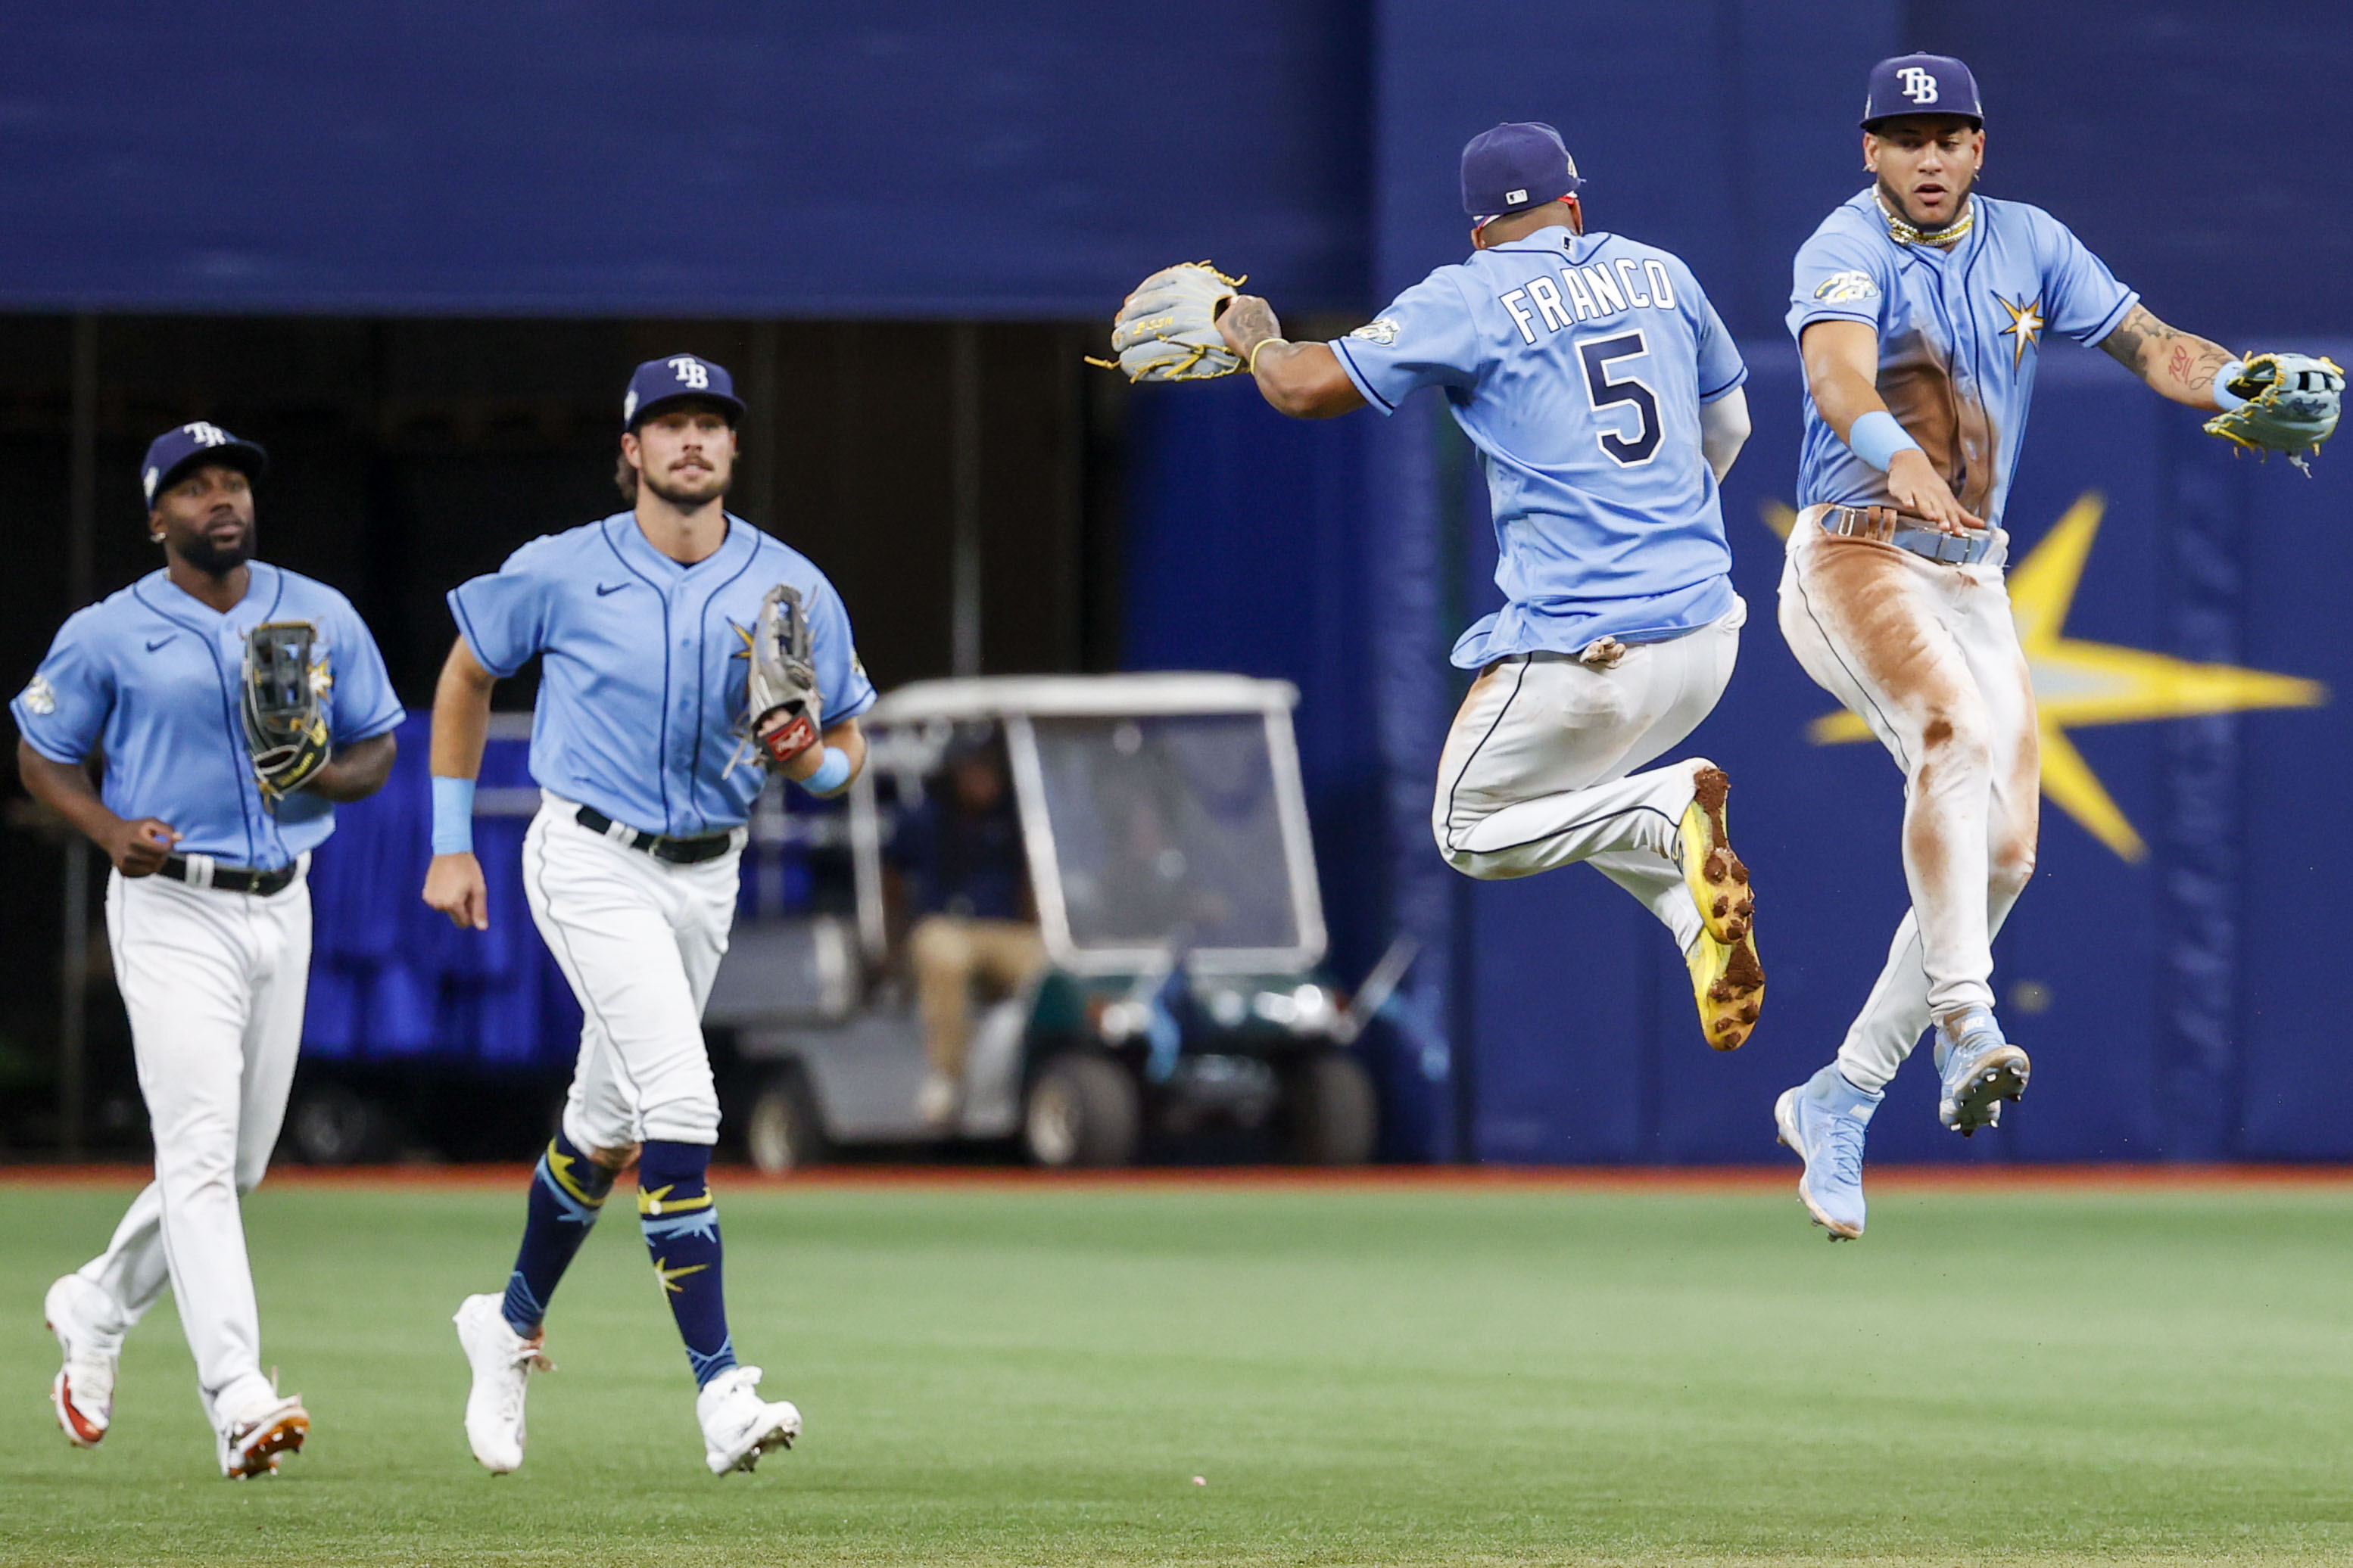
<svg viewBox="0 0 2353 1568">
<path fill-rule="evenodd" d="M 1885 1088 L 1937 1018 L 1993 1006 L 1993 933 L 2035 875 L 2042 752 L 2035 689 L 2002 588 L 2002 550 L 1946 567 L 1821 529 L 1788 531 L 1781 635 L 1904 769 L 1911 910 L 1838 1048 Z"/>
</svg>

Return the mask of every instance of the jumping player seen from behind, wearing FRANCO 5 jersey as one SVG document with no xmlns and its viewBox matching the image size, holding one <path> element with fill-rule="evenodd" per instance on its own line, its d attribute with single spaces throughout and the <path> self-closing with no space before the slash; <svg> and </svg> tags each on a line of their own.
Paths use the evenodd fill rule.
<svg viewBox="0 0 2353 1568">
<path fill-rule="evenodd" d="M 1729 1051 L 1765 997 L 1729 780 L 1704 757 L 1635 769 L 1732 679 L 1746 607 L 1718 482 L 1748 437 L 1748 369 L 1680 259 L 1586 233 L 1579 186 L 1553 127 L 1497 125 L 1461 155 L 1471 259 L 1379 320 L 1289 343 L 1264 299 L 1169 268 L 1129 296 L 1113 346 L 1129 374 L 1179 346 L 1202 350 L 1193 374 L 1247 367 L 1294 418 L 1445 388 L 1487 470 L 1508 604 L 1454 644 L 1478 679 L 1438 764 L 1438 849 L 1471 877 L 1593 863 L 1673 931 L 1701 1032 Z M 1224 306 L 1214 334 L 1191 327 L 1202 306 Z"/>
</svg>

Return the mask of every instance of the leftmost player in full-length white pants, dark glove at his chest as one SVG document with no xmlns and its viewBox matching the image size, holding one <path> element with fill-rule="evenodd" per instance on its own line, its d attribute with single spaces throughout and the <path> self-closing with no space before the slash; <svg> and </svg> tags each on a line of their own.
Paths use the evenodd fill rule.
<svg viewBox="0 0 2353 1568">
<path fill-rule="evenodd" d="M 66 1352 L 49 1401 L 66 1439 L 96 1448 L 122 1335 L 169 1281 L 226 1476 L 275 1472 L 311 1429 L 301 1396 L 261 1373 L 238 1197 L 268 1166 L 294 1081 L 311 851 L 336 802 L 384 785 L 402 717 L 351 602 L 254 559 L 266 461 L 209 423 L 158 435 L 141 484 L 162 569 L 68 618 L 9 703 L 24 788 L 113 860 L 106 936 L 155 1133 L 155 1180 L 115 1239 L 49 1286 Z M 275 642 L 287 632 L 315 741 L 294 766 L 247 741 L 249 649 L 292 646 Z"/>
</svg>

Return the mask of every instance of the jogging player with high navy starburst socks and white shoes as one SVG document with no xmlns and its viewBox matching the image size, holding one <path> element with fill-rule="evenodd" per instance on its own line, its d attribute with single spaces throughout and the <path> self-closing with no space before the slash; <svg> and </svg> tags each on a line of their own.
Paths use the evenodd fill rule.
<svg viewBox="0 0 2353 1568">
<path fill-rule="evenodd" d="M 501 1295 L 456 1312 L 473 1363 L 466 1439 L 492 1472 L 522 1465 L 548 1302 L 633 1159 L 711 1472 L 751 1469 L 800 1434 L 800 1410 L 760 1399 L 760 1368 L 736 1363 L 727 1333 L 706 1185 L 720 1103 L 701 1011 L 767 771 L 840 795 L 866 762 L 856 717 L 875 691 L 833 583 L 722 505 L 741 414 L 734 381 L 708 360 L 640 364 L 621 402 L 631 510 L 536 538 L 449 592 L 459 637 L 433 696 L 424 898 L 459 926 L 489 926 L 471 837 L 489 691 L 541 656 L 532 778 L 544 804 L 522 877 L 586 1016 L 515 1269 Z"/>
</svg>

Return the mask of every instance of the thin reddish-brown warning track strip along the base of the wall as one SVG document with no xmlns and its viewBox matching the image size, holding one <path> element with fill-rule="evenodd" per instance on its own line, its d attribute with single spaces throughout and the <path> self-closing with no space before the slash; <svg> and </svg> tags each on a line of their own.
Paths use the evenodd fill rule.
<svg viewBox="0 0 2353 1568">
<path fill-rule="evenodd" d="M 520 1190 L 527 1164 L 473 1166 L 278 1166 L 273 1187 L 445 1187 L 471 1192 Z M 0 1185 L 19 1187 L 136 1187 L 146 1166 L 0 1166 Z M 1313 1171 L 1289 1166 L 1212 1166 L 1139 1171 L 1028 1171 L 1009 1166 L 824 1166 L 795 1175 L 760 1175 L 722 1166 L 718 1180 L 734 1190 L 887 1190 L 967 1187 L 998 1192 L 1765 1192 L 1798 1180 L 1788 1166 L 1362 1166 Z M 1969 1187 L 2002 1192 L 2198 1192 L 2247 1187 L 2353 1187 L 2353 1166 L 1871 1166 L 1885 1190 Z"/>
</svg>

